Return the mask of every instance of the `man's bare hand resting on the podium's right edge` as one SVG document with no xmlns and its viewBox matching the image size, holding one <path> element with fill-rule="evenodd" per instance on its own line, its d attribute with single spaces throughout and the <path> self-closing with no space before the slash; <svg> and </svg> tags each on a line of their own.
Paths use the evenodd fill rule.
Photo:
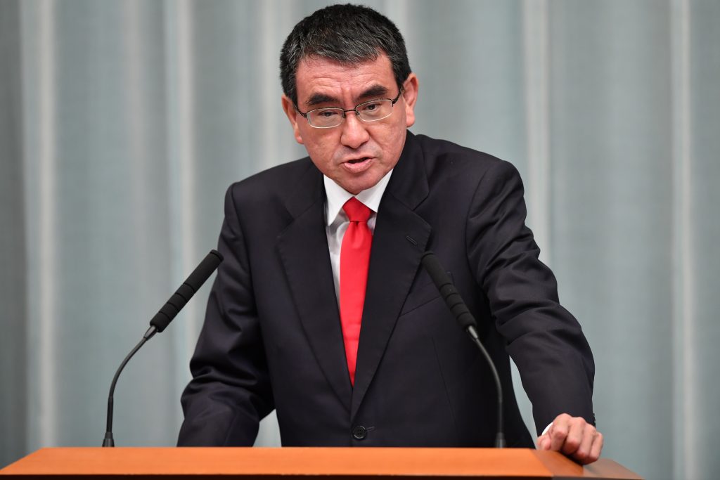
<svg viewBox="0 0 720 480">
<path fill-rule="evenodd" d="M 538 437 L 539 450 L 554 450 L 569 456 L 577 463 L 587 465 L 600 458 L 603 434 L 582 417 L 562 413 L 549 429 Z"/>
</svg>

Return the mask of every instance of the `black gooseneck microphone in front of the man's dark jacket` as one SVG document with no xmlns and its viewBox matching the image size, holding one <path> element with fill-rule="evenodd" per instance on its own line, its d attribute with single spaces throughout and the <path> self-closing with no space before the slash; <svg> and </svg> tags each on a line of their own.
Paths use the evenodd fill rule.
<svg viewBox="0 0 720 480">
<path fill-rule="evenodd" d="M 485 346 L 480 342 L 480 336 L 477 335 L 477 322 L 475 318 L 467 309 L 467 305 L 463 302 L 462 296 L 458 293 L 436 255 L 428 250 L 426 253 L 423 253 L 422 262 L 423 267 L 433 280 L 433 284 L 438 287 L 450 312 L 454 315 L 460 326 L 470 335 L 470 338 L 472 338 L 472 341 L 477 345 L 477 348 L 480 348 L 480 352 L 482 352 L 482 355 L 485 357 L 487 365 L 490 366 L 492 377 L 495 379 L 495 386 L 498 389 L 498 430 L 495 435 L 495 447 L 503 448 L 505 447 L 505 433 L 503 431 L 503 386 L 500 385 L 498 369 L 495 368 L 495 363 L 492 361 L 492 358 L 490 358 L 490 354 L 487 353 Z"/>
</svg>

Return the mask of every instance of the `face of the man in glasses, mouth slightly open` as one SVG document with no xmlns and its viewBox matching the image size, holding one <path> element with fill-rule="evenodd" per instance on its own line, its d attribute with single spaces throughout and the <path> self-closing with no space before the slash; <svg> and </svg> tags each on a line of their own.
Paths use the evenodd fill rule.
<svg viewBox="0 0 720 480">
<path fill-rule="evenodd" d="M 345 65 L 325 58 L 305 58 L 296 73 L 297 107 L 302 112 L 323 107 L 352 109 L 374 99 L 394 99 L 398 86 L 387 55 L 359 65 Z M 292 100 L 282 106 L 295 139 L 305 145 L 315 166 L 351 194 L 369 189 L 392 168 L 405 145 L 407 128 L 415 123 L 418 78 L 403 83 L 392 114 L 376 122 L 363 122 L 347 112 L 338 127 L 315 128 L 295 110 Z"/>
</svg>

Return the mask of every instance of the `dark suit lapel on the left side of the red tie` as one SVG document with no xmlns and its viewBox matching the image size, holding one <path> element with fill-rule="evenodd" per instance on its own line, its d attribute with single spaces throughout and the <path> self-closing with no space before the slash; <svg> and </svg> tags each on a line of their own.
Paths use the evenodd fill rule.
<svg viewBox="0 0 720 480">
<path fill-rule="evenodd" d="M 298 184 L 287 201 L 294 221 L 278 236 L 278 250 L 310 347 L 349 411 L 351 384 L 325 234 L 323 176 L 312 167 Z"/>
</svg>

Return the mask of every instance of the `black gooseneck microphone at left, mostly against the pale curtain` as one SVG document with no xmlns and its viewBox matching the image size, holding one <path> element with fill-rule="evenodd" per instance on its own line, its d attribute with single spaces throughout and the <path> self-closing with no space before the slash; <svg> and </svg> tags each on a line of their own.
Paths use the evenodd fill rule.
<svg viewBox="0 0 720 480">
<path fill-rule="evenodd" d="M 117 372 L 115 372 L 112 384 L 110 385 L 110 394 L 107 397 L 107 428 L 105 429 L 105 438 L 102 441 L 102 446 L 115 446 L 115 440 L 112 438 L 112 396 L 114 394 L 115 384 L 117 384 L 117 377 L 120 376 L 120 372 L 123 368 L 125 368 L 125 365 L 128 361 L 130 361 L 130 358 L 132 358 L 132 356 L 140 350 L 140 347 L 145 345 L 145 342 L 150 340 L 150 338 L 153 338 L 153 335 L 156 333 L 165 330 L 167 326 L 170 325 L 170 322 L 173 321 L 175 316 L 185 306 L 189 299 L 192 299 L 192 296 L 200 289 L 202 284 L 210 278 L 210 275 L 212 275 L 212 272 L 217 269 L 220 262 L 222 262 L 222 255 L 220 255 L 220 252 L 217 250 L 210 250 L 210 253 L 207 254 L 203 261 L 200 262 L 192 273 L 190 273 L 190 276 L 186 279 L 186 281 L 184 281 L 180 288 L 177 289 L 173 296 L 165 302 L 160 311 L 155 314 L 152 320 L 150 320 L 150 328 L 148 328 L 148 331 L 145 332 L 145 335 L 143 335 L 143 339 L 140 340 L 138 345 L 135 345 L 135 348 L 133 348 L 132 351 L 127 354 L 125 360 L 120 363 L 120 368 L 118 368 Z"/>
</svg>

